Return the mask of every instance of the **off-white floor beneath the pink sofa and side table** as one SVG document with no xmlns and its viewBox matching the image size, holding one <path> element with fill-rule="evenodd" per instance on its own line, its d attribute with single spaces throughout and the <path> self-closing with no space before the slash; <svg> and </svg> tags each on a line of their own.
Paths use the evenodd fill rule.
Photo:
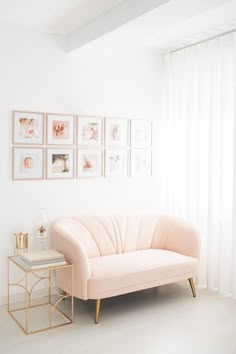
<svg viewBox="0 0 236 354">
<path fill-rule="evenodd" d="M 187 282 L 94 302 L 75 302 L 74 324 L 25 335 L 0 307 L 1 354 L 236 354 L 236 300 Z M 37 319 L 35 319 L 37 320 Z"/>
</svg>

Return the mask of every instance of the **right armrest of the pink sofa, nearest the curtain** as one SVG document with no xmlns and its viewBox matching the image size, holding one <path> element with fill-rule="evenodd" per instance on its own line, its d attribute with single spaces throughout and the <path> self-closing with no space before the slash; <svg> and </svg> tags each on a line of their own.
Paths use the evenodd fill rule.
<svg viewBox="0 0 236 354">
<path fill-rule="evenodd" d="M 199 259 L 200 237 L 188 223 L 162 216 L 153 239 L 153 248 L 161 248 Z"/>
</svg>

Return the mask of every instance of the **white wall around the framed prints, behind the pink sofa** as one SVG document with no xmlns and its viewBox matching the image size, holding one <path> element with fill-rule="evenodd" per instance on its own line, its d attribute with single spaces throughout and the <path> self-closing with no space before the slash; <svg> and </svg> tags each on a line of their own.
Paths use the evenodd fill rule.
<svg viewBox="0 0 236 354">
<path fill-rule="evenodd" d="M 90 45 L 65 54 L 63 40 L 0 27 L 0 301 L 13 233 L 28 231 L 45 206 L 49 224 L 79 213 L 156 209 L 155 178 L 12 181 L 12 110 L 155 118 L 161 60 L 155 52 Z M 155 126 L 155 125 L 154 125 Z M 155 129 L 155 128 L 154 128 Z"/>
</svg>

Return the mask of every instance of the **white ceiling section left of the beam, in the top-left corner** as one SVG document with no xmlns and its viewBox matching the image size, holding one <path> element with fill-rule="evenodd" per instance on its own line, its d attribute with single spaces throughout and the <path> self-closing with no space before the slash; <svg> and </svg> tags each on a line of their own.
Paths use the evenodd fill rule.
<svg viewBox="0 0 236 354">
<path fill-rule="evenodd" d="M 123 1 L 0 0 L 0 23 L 64 35 Z"/>
</svg>

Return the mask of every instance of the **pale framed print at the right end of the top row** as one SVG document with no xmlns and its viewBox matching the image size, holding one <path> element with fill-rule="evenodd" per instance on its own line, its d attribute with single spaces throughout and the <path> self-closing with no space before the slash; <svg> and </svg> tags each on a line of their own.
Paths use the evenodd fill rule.
<svg viewBox="0 0 236 354">
<path fill-rule="evenodd" d="M 152 146 L 152 122 L 149 120 L 131 120 L 131 146 L 146 148 Z"/>
</svg>

